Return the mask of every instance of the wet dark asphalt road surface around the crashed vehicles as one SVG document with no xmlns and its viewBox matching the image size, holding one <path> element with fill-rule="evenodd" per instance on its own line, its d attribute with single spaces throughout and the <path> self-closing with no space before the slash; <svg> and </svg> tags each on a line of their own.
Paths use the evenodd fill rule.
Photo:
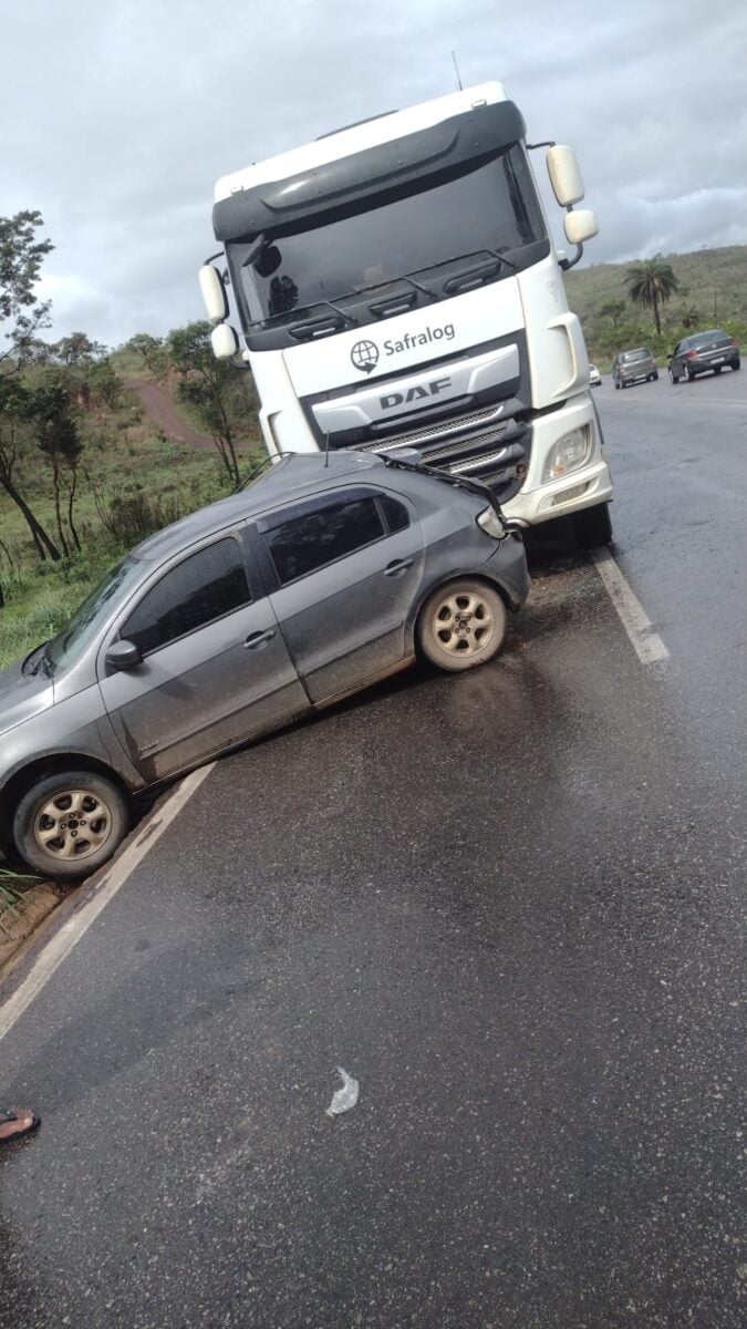
<svg viewBox="0 0 747 1329">
<path fill-rule="evenodd" d="M 3 1329 L 743 1322 L 747 373 L 595 400 L 669 659 L 550 548 L 211 771 L 0 1043 Z"/>
</svg>

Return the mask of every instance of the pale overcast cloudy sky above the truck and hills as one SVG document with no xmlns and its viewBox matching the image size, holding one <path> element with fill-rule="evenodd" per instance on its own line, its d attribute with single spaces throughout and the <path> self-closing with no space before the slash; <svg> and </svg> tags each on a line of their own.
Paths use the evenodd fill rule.
<svg viewBox="0 0 747 1329">
<path fill-rule="evenodd" d="M 202 318 L 217 177 L 452 92 L 452 48 L 530 141 L 578 153 L 589 260 L 747 242 L 747 0 L 0 0 L 0 215 L 44 215 L 48 336 Z"/>
</svg>

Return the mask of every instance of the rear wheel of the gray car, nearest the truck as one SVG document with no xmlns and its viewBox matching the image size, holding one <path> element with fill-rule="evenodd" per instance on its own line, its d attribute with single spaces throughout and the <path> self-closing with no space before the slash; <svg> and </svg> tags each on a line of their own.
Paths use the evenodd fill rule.
<svg viewBox="0 0 747 1329">
<path fill-rule="evenodd" d="M 431 664 L 457 674 L 494 659 L 506 627 L 506 607 L 494 586 L 460 577 L 428 597 L 417 617 L 416 639 Z"/>
</svg>

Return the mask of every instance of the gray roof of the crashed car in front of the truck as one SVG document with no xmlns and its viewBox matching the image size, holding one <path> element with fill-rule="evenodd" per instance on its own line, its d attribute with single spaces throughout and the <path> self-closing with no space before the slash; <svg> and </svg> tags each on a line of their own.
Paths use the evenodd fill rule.
<svg viewBox="0 0 747 1329">
<path fill-rule="evenodd" d="M 254 480 L 246 489 L 219 498 L 207 508 L 182 517 L 163 530 L 149 536 L 133 549 L 133 557 L 148 562 L 163 558 L 211 536 L 226 526 L 275 508 L 279 502 L 300 498 L 314 492 L 332 488 L 338 481 L 380 480 L 384 462 L 380 457 L 363 452 L 287 453 L 274 466 Z"/>
</svg>

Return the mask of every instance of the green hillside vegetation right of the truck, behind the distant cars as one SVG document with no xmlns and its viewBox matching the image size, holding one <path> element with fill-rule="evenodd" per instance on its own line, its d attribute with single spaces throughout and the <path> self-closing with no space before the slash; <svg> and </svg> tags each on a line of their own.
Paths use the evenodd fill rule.
<svg viewBox="0 0 747 1329">
<path fill-rule="evenodd" d="M 653 316 L 653 299 L 649 306 L 643 300 L 633 303 L 630 295 L 638 282 L 627 280 L 651 263 L 669 268 L 675 280 L 669 300 L 657 298 L 657 306 L 663 304 L 657 310 L 661 332 Z M 711 327 L 723 327 L 747 342 L 747 246 L 743 245 L 659 254 L 634 264 L 599 263 L 574 268 L 565 282 L 570 307 L 584 324 L 589 355 L 601 369 L 610 368 L 618 351 L 635 346 L 650 347 L 659 364 L 666 365 L 677 342 L 689 332 Z"/>
</svg>

